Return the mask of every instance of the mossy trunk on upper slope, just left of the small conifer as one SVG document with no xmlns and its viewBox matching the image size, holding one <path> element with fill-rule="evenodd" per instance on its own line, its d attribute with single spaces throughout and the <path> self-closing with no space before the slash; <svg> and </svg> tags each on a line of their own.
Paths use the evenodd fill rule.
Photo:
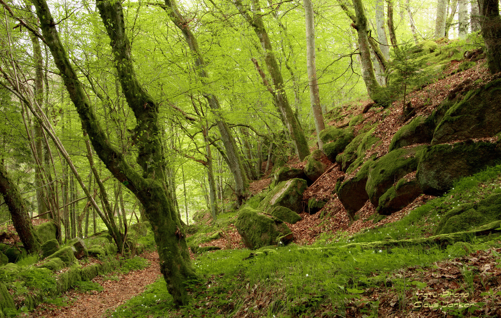
<svg viewBox="0 0 501 318">
<path fill-rule="evenodd" d="M 369 29 L 362 0 L 353 0 L 353 7 L 355 9 L 356 20 L 352 26 L 355 30 L 357 30 L 358 35 L 358 50 L 360 52 L 360 60 L 362 63 L 362 77 L 364 79 L 369 97 L 375 103 L 382 103 L 383 101 L 381 100 L 379 93 L 381 86 L 376 80 L 376 75 L 372 67 L 371 52 L 367 37 Z"/>
</svg>

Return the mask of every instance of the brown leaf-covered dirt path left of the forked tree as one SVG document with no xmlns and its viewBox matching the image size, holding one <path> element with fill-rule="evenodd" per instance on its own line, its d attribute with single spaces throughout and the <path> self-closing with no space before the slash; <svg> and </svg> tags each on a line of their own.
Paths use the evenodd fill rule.
<svg viewBox="0 0 501 318">
<path fill-rule="evenodd" d="M 116 272 L 119 280 L 104 280 L 96 277 L 93 281 L 100 283 L 104 291 L 95 294 L 79 293 L 74 289 L 68 290 L 64 295 L 73 299 L 65 307 L 42 303 L 37 309 L 30 312 L 30 317 L 60 317 L 60 318 L 99 318 L 108 309 L 115 309 L 126 300 L 143 292 L 145 286 L 154 282 L 160 273 L 157 252 L 145 252 L 141 255 L 151 263 L 141 270 L 131 270 L 127 274 Z"/>
</svg>

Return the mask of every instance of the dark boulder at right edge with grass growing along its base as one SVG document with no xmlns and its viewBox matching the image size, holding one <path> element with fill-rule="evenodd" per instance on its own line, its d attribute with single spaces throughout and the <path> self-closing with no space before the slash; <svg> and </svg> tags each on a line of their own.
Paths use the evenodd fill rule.
<svg viewBox="0 0 501 318">
<path fill-rule="evenodd" d="M 417 166 L 416 178 L 424 194 L 442 195 L 453 182 L 472 175 L 501 158 L 501 145 L 496 143 L 465 142 L 426 146 Z"/>
</svg>

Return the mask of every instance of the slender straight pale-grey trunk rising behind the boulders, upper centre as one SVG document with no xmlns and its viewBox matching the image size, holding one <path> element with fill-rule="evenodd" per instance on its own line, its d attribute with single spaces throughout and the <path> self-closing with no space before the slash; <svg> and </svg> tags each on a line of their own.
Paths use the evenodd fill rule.
<svg viewBox="0 0 501 318">
<path fill-rule="evenodd" d="M 320 139 L 320 132 L 325 129 L 324 115 L 320 106 L 320 92 L 318 89 L 317 67 L 315 64 L 315 21 L 311 0 L 304 0 L 306 19 L 306 68 L 310 83 L 310 105 L 317 131 L 318 149 L 323 150 L 324 143 Z"/>
</svg>

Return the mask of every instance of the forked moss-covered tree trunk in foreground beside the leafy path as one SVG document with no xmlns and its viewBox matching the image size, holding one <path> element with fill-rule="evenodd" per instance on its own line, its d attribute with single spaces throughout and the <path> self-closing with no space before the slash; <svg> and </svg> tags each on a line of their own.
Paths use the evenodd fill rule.
<svg viewBox="0 0 501 318">
<path fill-rule="evenodd" d="M 111 40 L 112 54 L 122 91 L 136 117 L 134 138 L 138 145 L 136 171 L 108 140 L 93 105 L 85 94 L 77 73 L 64 50 L 56 24 L 45 0 L 33 1 L 47 45 L 63 78 L 69 96 L 80 116 L 82 127 L 108 170 L 142 203 L 152 224 L 160 270 L 167 289 L 176 304 L 186 304 L 186 281 L 196 276 L 188 247 L 181 232 L 179 214 L 172 205 L 164 175 L 164 159 L 158 124 L 158 104 L 137 81 L 132 65 L 130 42 L 125 34 L 122 7 L 119 2 L 98 2 L 97 7 Z"/>
</svg>

